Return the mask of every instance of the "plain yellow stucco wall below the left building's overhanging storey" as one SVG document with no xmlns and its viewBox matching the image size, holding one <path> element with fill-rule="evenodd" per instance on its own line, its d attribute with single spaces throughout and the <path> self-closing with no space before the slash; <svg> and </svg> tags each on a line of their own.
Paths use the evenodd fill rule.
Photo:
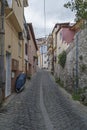
<svg viewBox="0 0 87 130">
<path fill-rule="evenodd" d="M 14 27 L 11 25 L 10 21 L 5 22 L 5 52 L 11 53 L 11 58 L 19 61 L 19 68 L 22 71 L 22 41 L 21 44 L 21 55 L 18 55 L 18 32 L 15 31 Z M 10 45 L 10 48 L 9 48 Z"/>
</svg>

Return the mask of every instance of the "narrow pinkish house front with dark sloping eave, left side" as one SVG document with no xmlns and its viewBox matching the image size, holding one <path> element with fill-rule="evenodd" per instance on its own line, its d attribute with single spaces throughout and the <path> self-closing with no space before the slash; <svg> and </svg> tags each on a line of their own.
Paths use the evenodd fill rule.
<svg viewBox="0 0 87 130">
<path fill-rule="evenodd" d="M 28 29 L 29 29 L 29 35 L 30 35 L 30 40 L 29 40 L 29 45 L 28 45 L 28 74 L 33 75 L 37 71 L 37 44 L 36 44 L 36 39 L 35 39 L 35 34 L 33 30 L 33 25 L 32 23 L 28 23 Z"/>
</svg>

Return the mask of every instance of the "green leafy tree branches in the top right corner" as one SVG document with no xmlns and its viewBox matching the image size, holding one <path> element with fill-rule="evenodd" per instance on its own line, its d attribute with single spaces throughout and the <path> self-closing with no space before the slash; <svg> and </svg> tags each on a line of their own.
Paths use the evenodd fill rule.
<svg viewBox="0 0 87 130">
<path fill-rule="evenodd" d="M 70 0 L 64 7 L 75 11 L 76 21 L 87 20 L 87 0 Z"/>
</svg>

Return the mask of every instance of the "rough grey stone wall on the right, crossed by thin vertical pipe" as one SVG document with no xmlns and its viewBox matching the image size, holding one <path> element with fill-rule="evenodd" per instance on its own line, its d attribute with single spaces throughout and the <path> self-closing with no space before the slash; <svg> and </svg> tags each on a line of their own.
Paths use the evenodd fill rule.
<svg viewBox="0 0 87 130">
<path fill-rule="evenodd" d="M 73 43 L 66 50 L 67 59 L 65 68 L 56 65 L 56 77 L 64 83 L 64 87 L 73 88 L 76 84 L 76 36 Z M 87 29 L 82 30 L 78 36 L 78 77 L 79 87 L 87 87 Z"/>
</svg>

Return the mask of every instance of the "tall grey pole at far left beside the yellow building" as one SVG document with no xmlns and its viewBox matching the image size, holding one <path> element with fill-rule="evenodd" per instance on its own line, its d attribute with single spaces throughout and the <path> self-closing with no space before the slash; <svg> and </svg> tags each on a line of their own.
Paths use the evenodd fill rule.
<svg viewBox="0 0 87 130">
<path fill-rule="evenodd" d="M 2 90 L 5 87 L 5 65 L 4 65 L 4 50 L 5 50 L 5 30 L 4 30 L 4 11 L 5 0 L 0 3 L 0 97 Z"/>
</svg>

